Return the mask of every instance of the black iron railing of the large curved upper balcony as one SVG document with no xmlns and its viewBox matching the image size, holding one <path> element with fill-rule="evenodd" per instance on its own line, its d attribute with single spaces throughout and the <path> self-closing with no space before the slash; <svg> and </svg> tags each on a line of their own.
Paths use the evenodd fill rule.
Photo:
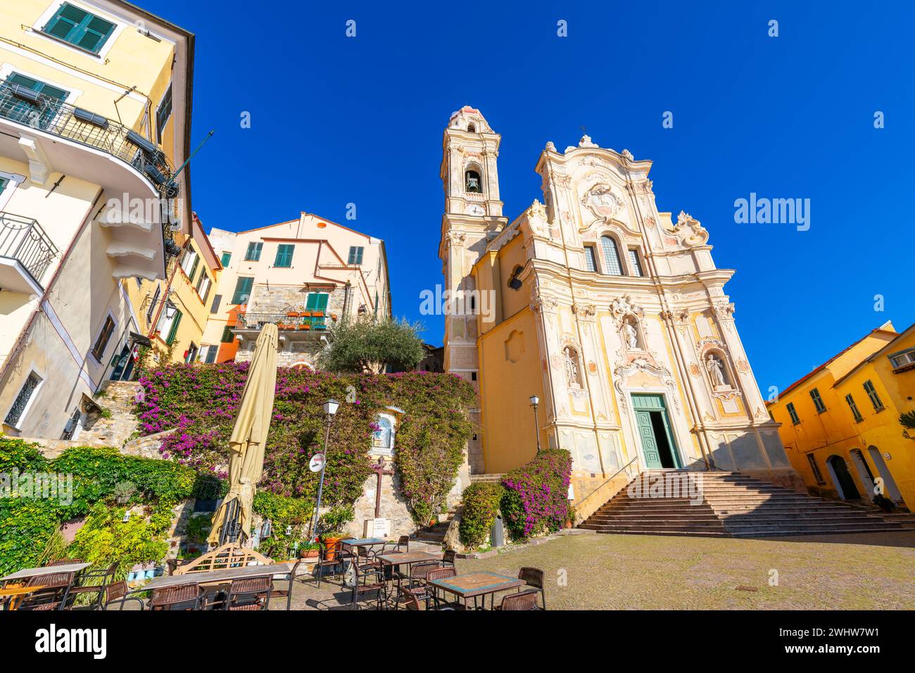
<svg viewBox="0 0 915 673">
<path fill-rule="evenodd" d="M 144 136 L 101 114 L 64 103 L 19 84 L 0 83 L 0 117 L 102 150 L 136 168 L 163 200 L 178 196 L 175 171 L 161 149 Z M 170 202 L 168 203 L 170 210 Z M 166 266 L 178 255 L 168 223 L 162 225 Z"/>
</svg>

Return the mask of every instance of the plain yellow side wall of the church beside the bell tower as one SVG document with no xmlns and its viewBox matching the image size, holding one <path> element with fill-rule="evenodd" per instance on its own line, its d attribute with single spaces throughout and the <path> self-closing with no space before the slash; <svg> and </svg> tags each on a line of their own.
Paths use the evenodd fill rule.
<svg viewBox="0 0 915 673">
<path fill-rule="evenodd" d="M 530 461 L 537 452 L 533 409 L 527 399 L 541 398 L 538 410 L 544 426 L 544 385 L 539 362 L 533 311 L 524 310 L 488 331 L 478 340 L 481 377 L 479 398 L 486 472 L 508 472 Z M 521 400 L 521 401 L 520 401 Z M 541 431 L 546 447 L 547 436 Z"/>
</svg>

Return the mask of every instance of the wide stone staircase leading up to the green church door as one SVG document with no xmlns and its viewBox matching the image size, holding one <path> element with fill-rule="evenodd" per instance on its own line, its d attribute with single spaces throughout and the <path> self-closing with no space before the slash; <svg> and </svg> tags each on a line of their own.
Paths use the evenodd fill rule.
<svg viewBox="0 0 915 673">
<path fill-rule="evenodd" d="M 598 533 L 708 537 L 778 537 L 900 530 L 870 510 L 826 501 L 740 472 L 652 470 L 635 481 L 659 477 L 698 480 L 693 492 L 668 491 L 650 497 L 648 489 L 630 497 L 629 486 L 614 495 L 579 527 Z M 646 481 L 647 476 L 647 481 Z M 683 483 L 683 482 L 681 482 Z M 671 495 L 667 497 L 667 495 Z M 694 504 L 695 503 L 695 504 Z"/>
</svg>

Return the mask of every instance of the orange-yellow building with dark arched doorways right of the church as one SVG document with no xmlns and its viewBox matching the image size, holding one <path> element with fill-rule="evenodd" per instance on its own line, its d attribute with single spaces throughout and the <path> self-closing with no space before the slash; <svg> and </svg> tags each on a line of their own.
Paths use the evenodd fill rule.
<svg viewBox="0 0 915 673">
<path fill-rule="evenodd" d="M 899 424 L 915 409 L 915 325 L 890 321 L 768 404 L 794 469 L 811 493 L 842 500 L 884 494 L 915 503 L 915 440 Z"/>
</svg>

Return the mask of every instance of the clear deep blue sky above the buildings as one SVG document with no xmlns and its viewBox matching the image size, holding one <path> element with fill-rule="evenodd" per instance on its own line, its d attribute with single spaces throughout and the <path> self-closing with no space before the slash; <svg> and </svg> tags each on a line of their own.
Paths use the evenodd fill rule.
<svg viewBox="0 0 915 673">
<path fill-rule="evenodd" d="M 197 34 L 194 144 L 216 131 L 193 162 L 207 230 L 300 211 L 348 223 L 355 203 L 348 224 L 387 245 L 399 316 L 419 319 L 420 291 L 442 282 L 442 131 L 468 103 L 502 134 L 510 220 L 542 199 L 547 140 L 576 145 L 585 126 L 652 159 L 658 208 L 691 213 L 737 269 L 726 291 L 764 395 L 885 320 L 915 321 L 906 5 L 138 1 Z M 735 223 L 750 192 L 810 199 L 809 231 Z M 441 318 L 422 320 L 440 344 Z"/>
</svg>

